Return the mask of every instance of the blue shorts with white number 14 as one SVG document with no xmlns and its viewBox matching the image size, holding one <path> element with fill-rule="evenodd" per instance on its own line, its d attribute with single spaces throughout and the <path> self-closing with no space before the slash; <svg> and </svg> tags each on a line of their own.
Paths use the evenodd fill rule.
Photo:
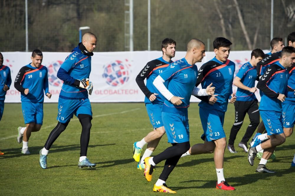
<svg viewBox="0 0 295 196">
<path fill-rule="evenodd" d="M 163 127 L 162 121 L 162 108 L 163 104 L 154 104 L 154 103 L 146 103 L 145 107 L 147 108 L 148 117 L 150 118 L 150 123 L 153 125 L 153 128 Z"/>
</svg>

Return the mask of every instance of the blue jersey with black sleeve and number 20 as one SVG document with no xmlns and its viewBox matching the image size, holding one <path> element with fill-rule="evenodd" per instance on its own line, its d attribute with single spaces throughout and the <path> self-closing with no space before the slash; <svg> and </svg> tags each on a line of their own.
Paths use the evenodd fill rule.
<svg viewBox="0 0 295 196">
<path fill-rule="evenodd" d="M 22 102 L 42 103 L 44 101 L 44 92 L 45 94 L 49 93 L 47 73 L 47 68 L 43 65 L 36 68 L 27 64 L 19 70 L 14 81 L 14 87 L 21 92 Z M 29 89 L 27 95 L 24 94 L 26 88 Z"/>
</svg>

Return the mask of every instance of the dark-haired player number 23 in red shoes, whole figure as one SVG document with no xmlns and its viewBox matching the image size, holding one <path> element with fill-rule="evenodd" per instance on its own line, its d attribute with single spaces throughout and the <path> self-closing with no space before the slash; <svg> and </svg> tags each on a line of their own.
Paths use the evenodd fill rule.
<svg viewBox="0 0 295 196">
<path fill-rule="evenodd" d="M 235 94 L 232 93 L 232 82 L 235 73 L 235 63 L 228 60 L 232 43 L 223 37 L 217 37 L 213 41 L 216 56 L 201 66 L 197 85 L 202 88 L 210 83 L 215 86 L 215 94 L 218 99 L 213 103 L 202 100 L 199 103 L 199 113 L 204 134 L 201 138 L 203 144 L 193 145 L 182 157 L 214 152 L 214 162 L 217 173 L 216 188 L 222 190 L 235 190 L 224 179 L 223 159 L 226 148 L 226 138 L 223 130 L 224 115 L 227 110 L 228 100 L 234 103 Z M 213 104 L 213 105 L 212 105 Z"/>
</svg>

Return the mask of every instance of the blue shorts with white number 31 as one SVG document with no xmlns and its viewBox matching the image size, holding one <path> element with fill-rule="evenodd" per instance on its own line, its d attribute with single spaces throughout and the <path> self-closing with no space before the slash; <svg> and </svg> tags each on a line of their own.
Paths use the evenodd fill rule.
<svg viewBox="0 0 295 196">
<path fill-rule="evenodd" d="M 284 133 L 283 117 L 281 112 L 260 110 L 267 135 L 278 135 Z"/>
</svg>

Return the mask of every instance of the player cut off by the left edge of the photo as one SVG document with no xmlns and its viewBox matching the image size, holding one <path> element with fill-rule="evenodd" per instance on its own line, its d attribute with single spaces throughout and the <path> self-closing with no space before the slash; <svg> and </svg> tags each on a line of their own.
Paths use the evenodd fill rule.
<svg viewBox="0 0 295 196">
<path fill-rule="evenodd" d="M 4 58 L 0 52 L 0 121 L 4 111 L 5 95 L 11 85 L 10 69 L 9 67 L 3 65 L 3 61 Z M 0 151 L 0 155 L 4 155 L 4 153 Z"/>
</svg>

